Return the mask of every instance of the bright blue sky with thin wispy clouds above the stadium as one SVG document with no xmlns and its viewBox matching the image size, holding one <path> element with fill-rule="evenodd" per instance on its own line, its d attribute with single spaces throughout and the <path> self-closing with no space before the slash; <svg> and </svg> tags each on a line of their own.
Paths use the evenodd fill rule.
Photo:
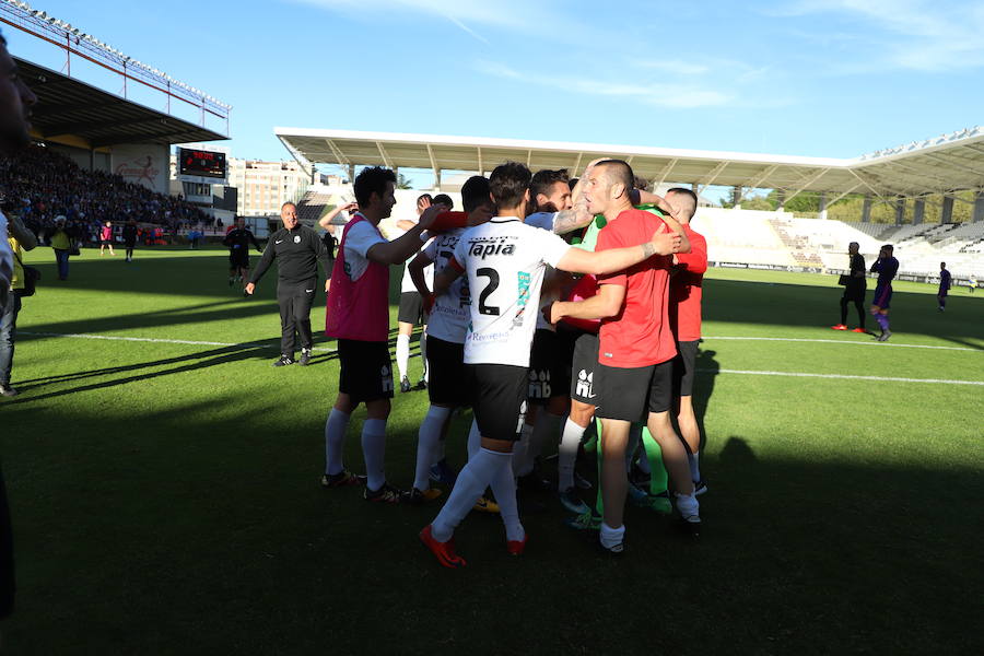
<svg viewBox="0 0 984 656">
<path fill-rule="evenodd" d="M 32 4 L 233 105 L 239 157 L 285 159 L 274 126 L 846 157 L 984 114 L 980 2 Z"/>
</svg>

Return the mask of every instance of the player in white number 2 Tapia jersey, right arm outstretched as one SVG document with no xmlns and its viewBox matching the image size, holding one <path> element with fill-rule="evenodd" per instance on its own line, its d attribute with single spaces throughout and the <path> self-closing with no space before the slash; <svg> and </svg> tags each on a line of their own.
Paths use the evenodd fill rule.
<svg viewBox="0 0 984 656">
<path fill-rule="evenodd" d="M 531 177 L 515 162 L 492 172 L 489 185 L 499 215 L 466 231 L 450 266 L 434 278 L 435 292 L 443 293 L 462 273 L 468 276 L 472 301 L 465 379 L 481 433 L 481 447 L 458 475 L 447 503 L 420 532 L 421 541 L 446 567 L 466 564 L 455 553 L 454 530 L 489 485 L 505 524 L 507 551 L 518 555 L 526 547 L 511 460 L 526 411 L 529 350 L 546 267 L 602 274 L 680 246 L 678 235 L 656 233 L 645 244 L 604 253 L 572 248 L 559 236 L 523 222 Z"/>
</svg>

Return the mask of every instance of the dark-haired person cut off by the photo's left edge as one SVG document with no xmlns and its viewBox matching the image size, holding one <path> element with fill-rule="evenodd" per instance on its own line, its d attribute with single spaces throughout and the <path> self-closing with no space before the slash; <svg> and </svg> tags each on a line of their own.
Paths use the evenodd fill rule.
<svg viewBox="0 0 984 656">
<path fill-rule="evenodd" d="M 30 143 L 31 107 L 37 97 L 17 74 L 17 65 L 7 51 L 0 35 L 0 151 L 15 153 Z M 7 216 L 0 212 L 0 309 L 7 307 L 13 276 L 13 254 L 8 242 Z M 4 430 L 9 419 L 4 419 Z M 14 605 L 13 532 L 7 505 L 7 485 L 0 468 L 0 620 L 13 612 Z"/>
</svg>

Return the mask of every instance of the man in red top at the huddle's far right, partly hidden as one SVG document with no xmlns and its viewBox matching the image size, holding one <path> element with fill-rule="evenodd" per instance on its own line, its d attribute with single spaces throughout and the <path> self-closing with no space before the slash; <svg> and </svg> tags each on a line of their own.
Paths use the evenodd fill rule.
<svg viewBox="0 0 984 656">
<path fill-rule="evenodd" d="M 666 200 L 677 210 L 677 221 L 690 242 L 690 253 L 673 255 L 670 276 L 670 324 L 677 340 L 677 358 L 673 360 L 673 406 L 680 437 L 690 452 L 690 476 L 694 494 L 707 490 L 701 480 L 701 429 L 693 412 L 693 377 L 698 344 L 701 341 L 701 296 L 704 272 L 707 270 L 707 241 L 690 227 L 696 211 L 696 194 L 683 187 L 666 192 Z"/>
</svg>

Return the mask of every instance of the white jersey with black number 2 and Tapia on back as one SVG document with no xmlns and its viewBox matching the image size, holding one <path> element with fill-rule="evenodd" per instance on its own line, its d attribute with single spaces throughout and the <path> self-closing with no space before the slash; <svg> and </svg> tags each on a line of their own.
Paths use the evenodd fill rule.
<svg viewBox="0 0 984 656">
<path fill-rule="evenodd" d="M 468 274 L 471 292 L 467 364 L 529 366 L 546 267 L 557 267 L 570 248 L 515 216 L 496 216 L 461 235 L 455 263 Z"/>
</svg>

